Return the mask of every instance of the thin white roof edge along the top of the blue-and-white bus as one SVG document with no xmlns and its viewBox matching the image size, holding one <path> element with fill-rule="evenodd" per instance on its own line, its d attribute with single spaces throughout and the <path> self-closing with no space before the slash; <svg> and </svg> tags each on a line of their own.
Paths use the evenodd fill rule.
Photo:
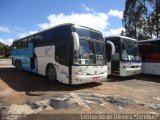
<svg viewBox="0 0 160 120">
<path fill-rule="evenodd" d="M 87 26 L 83 26 L 83 25 L 79 25 L 79 24 L 75 24 L 75 23 L 63 23 L 63 24 L 55 25 L 55 26 L 50 27 L 50 28 L 48 28 L 48 29 L 45 29 L 45 30 L 42 30 L 42 31 L 33 33 L 33 34 L 31 34 L 31 35 L 28 35 L 28 36 L 25 36 L 25 37 L 22 37 L 22 38 L 19 38 L 19 39 L 15 39 L 14 41 L 18 41 L 18 40 L 21 40 L 21 39 L 24 39 L 24 38 L 27 38 L 27 37 L 31 37 L 31 36 L 36 35 L 36 34 L 38 34 L 38 33 L 42 33 L 42 32 L 45 32 L 45 31 L 47 31 L 47 30 L 51 30 L 51 29 L 53 29 L 53 28 L 56 28 L 56 27 L 59 27 L 59 26 L 63 26 L 63 25 L 77 25 L 77 26 L 85 27 L 85 28 L 91 29 L 91 30 L 93 30 L 93 31 L 102 33 L 102 32 L 99 31 L 99 30 L 96 30 L 96 29 L 93 29 L 93 28 L 89 28 L 89 27 L 87 27 Z M 14 42 L 14 41 L 13 41 L 13 42 Z"/>
</svg>

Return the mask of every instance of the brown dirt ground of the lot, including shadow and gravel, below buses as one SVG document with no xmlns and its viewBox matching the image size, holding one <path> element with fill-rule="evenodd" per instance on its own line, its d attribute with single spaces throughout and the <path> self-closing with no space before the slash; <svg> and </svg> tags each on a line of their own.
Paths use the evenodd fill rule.
<svg viewBox="0 0 160 120">
<path fill-rule="evenodd" d="M 33 117 L 32 113 L 158 115 L 160 114 L 160 77 L 152 75 L 125 78 L 112 76 L 101 83 L 74 86 L 58 82 L 51 84 L 45 77 L 18 71 L 11 65 L 11 60 L 1 59 L 0 112 L 3 112 L 4 106 L 7 111 L 11 111 L 12 108 L 15 108 L 14 105 L 29 106 L 31 114 L 27 116 L 28 118 Z M 36 119 L 42 119 L 42 117 L 36 116 Z"/>
</svg>

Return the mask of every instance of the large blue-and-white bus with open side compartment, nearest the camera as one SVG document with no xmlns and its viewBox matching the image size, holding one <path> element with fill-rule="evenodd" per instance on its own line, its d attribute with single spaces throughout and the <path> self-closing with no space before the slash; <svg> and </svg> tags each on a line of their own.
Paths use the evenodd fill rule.
<svg viewBox="0 0 160 120">
<path fill-rule="evenodd" d="M 15 40 L 12 64 L 65 84 L 104 81 L 107 77 L 102 33 L 71 23 Z"/>
</svg>

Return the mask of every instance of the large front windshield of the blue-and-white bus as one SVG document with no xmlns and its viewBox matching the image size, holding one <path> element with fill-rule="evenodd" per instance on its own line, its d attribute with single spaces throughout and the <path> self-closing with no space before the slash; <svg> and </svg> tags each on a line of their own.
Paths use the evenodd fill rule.
<svg viewBox="0 0 160 120">
<path fill-rule="evenodd" d="M 102 34 L 83 27 L 73 29 L 80 39 L 80 50 L 74 55 L 74 64 L 103 65 L 105 63 L 105 43 Z"/>
</svg>

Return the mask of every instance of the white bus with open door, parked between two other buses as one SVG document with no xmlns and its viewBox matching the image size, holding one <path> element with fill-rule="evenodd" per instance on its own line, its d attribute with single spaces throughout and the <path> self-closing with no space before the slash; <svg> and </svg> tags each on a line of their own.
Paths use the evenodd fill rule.
<svg viewBox="0 0 160 120">
<path fill-rule="evenodd" d="M 138 42 L 124 36 L 105 37 L 108 75 L 131 76 L 141 73 Z"/>
</svg>

